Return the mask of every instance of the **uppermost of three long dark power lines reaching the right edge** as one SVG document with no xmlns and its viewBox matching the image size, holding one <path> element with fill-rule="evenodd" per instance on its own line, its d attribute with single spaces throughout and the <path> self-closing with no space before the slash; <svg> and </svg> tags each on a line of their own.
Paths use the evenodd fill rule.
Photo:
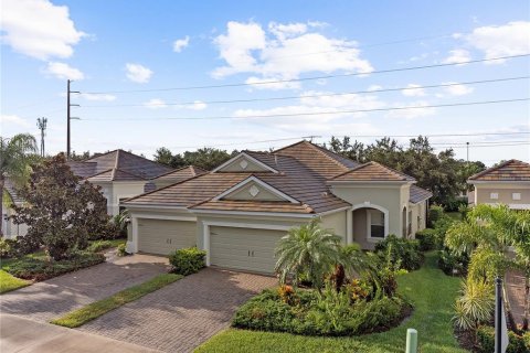
<svg viewBox="0 0 530 353">
<path fill-rule="evenodd" d="M 406 71 L 413 71 L 413 69 L 424 69 L 424 68 L 434 68 L 434 67 L 455 66 L 455 65 L 463 65 L 463 64 L 485 63 L 485 62 L 491 62 L 491 61 L 508 60 L 508 58 L 516 58 L 516 57 L 527 57 L 527 56 L 530 56 L 530 54 L 498 56 L 498 57 L 492 57 L 492 58 L 477 58 L 477 60 L 469 60 L 469 61 L 459 62 L 459 63 L 444 63 L 444 64 L 432 64 L 432 65 L 422 65 L 422 66 L 410 66 L 410 67 L 379 69 L 379 71 L 361 72 L 361 73 L 311 76 L 311 77 L 290 78 L 290 79 L 263 81 L 263 82 L 258 82 L 258 83 L 239 83 L 239 84 L 223 84 L 223 85 L 205 85 L 205 86 L 188 86 L 188 87 L 152 88 L 152 89 L 107 90 L 107 92 L 83 92 L 83 93 L 91 94 L 91 95 L 104 95 L 104 94 L 118 94 L 118 93 L 146 93 L 146 92 L 167 92 L 167 90 L 189 90 L 189 89 L 205 89 L 205 88 L 256 86 L 256 85 L 289 83 L 289 82 L 304 82 L 304 81 L 314 81 L 314 79 L 327 79 L 327 78 L 337 78 L 337 77 L 350 77 L 350 76 L 363 76 L 363 75 L 385 74 L 385 73 L 394 73 L 394 72 L 406 72 Z"/>
</svg>

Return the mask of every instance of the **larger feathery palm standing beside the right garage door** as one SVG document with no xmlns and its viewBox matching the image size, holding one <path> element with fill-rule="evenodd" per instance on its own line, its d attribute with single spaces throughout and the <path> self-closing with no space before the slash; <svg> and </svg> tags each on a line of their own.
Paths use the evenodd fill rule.
<svg viewBox="0 0 530 353">
<path fill-rule="evenodd" d="M 298 285 L 301 274 L 307 274 L 312 286 L 320 291 L 324 277 L 339 263 L 341 237 L 324 229 L 320 220 L 289 229 L 278 242 L 275 271 L 280 275 L 280 282 L 293 275 L 293 285 Z"/>
</svg>

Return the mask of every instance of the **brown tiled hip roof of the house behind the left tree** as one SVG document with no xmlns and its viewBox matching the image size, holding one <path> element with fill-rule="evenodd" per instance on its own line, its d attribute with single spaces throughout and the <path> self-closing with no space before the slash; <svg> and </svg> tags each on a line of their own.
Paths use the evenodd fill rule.
<svg viewBox="0 0 530 353">
<path fill-rule="evenodd" d="M 169 167 L 134 153 L 115 150 L 83 162 L 68 162 L 74 174 L 92 182 L 142 181 L 172 172 Z"/>
</svg>

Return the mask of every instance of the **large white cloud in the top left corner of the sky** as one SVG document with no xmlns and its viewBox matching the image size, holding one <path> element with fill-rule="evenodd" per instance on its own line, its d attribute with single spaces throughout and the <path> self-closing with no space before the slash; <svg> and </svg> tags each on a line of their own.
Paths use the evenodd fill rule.
<svg viewBox="0 0 530 353">
<path fill-rule="evenodd" d="M 70 57 L 85 36 L 75 29 L 68 8 L 47 0 L 2 0 L 1 41 L 15 52 L 47 60 Z"/>
</svg>

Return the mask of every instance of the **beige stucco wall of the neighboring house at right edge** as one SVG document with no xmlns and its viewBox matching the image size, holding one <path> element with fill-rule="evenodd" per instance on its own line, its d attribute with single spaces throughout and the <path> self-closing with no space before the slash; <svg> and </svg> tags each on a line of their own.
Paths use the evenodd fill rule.
<svg viewBox="0 0 530 353">
<path fill-rule="evenodd" d="M 490 199 L 491 193 L 498 193 L 499 199 Z M 513 200 L 512 193 L 520 193 L 521 200 Z M 504 203 L 507 205 L 530 205 L 530 183 L 475 184 L 475 200 L 476 204 Z"/>
</svg>

